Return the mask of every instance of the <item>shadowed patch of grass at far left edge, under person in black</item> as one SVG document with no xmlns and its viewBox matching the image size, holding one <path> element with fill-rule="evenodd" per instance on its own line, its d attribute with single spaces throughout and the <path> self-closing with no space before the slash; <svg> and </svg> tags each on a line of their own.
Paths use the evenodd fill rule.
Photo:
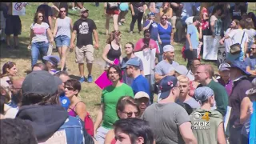
<svg viewBox="0 0 256 144">
<path fill-rule="evenodd" d="M 12 38 L 12 37 L 11 37 Z M 1 44 L 1 50 L 0 50 L 0 57 L 1 58 L 12 58 L 12 59 L 30 59 L 30 50 L 27 49 L 27 44 L 24 43 L 26 41 L 29 41 L 30 38 L 24 38 L 20 37 L 18 38 L 19 44 L 18 47 L 19 49 L 14 49 L 14 42 L 10 42 L 11 49 L 6 49 L 6 43 Z"/>
</svg>

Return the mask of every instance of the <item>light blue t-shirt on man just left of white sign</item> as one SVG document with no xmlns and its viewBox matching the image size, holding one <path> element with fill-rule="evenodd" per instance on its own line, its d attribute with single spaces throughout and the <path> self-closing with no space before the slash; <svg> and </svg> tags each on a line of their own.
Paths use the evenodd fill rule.
<svg viewBox="0 0 256 144">
<path fill-rule="evenodd" d="M 190 42 L 193 47 L 193 49 L 198 49 L 199 45 L 199 38 L 198 38 L 198 29 L 193 25 L 187 26 L 187 32 L 186 34 L 190 34 Z M 186 49 L 190 49 L 190 43 L 186 39 Z"/>
</svg>

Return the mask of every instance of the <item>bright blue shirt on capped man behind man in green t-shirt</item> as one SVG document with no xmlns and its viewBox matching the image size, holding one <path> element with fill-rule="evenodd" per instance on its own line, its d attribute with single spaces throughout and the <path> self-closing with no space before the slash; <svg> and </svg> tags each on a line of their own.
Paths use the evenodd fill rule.
<svg viewBox="0 0 256 144">
<path fill-rule="evenodd" d="M 150 84 L 142 74 L 138 75 L 137 78 L 134 78 L 131 88 L 134 90 L 134 95 L 139 91 L 144 91 L 150 95 Z"/>
</svg>

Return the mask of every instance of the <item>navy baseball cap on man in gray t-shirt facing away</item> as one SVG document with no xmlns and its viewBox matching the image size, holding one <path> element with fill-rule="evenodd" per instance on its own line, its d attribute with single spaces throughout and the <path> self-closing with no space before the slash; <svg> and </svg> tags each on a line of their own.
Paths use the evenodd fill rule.
<svg viewBox="0 0 256 144">
<path fill-rule="evenodd" d="M 165 78 L 162 78 L 161 82 L 159 83 L 159 89 L 161 90 L 160 98 L 168 98 L 170 95 L 170 90 L 176 86 L 177 82 L 178 79 L 174 76 L 166 76 Z"/>
</svg>

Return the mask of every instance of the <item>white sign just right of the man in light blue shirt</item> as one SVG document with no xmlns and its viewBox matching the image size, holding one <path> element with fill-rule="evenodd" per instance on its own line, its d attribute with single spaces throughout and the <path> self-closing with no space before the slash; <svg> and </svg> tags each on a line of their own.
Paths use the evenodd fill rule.
<svg viewBox="0 0 256 144">
<path fill-rule="evenodd" d="M 220 36 L 203 36 L 203 54 L 202 58 L 206 60 L 217 60 L 218 59 L 218 48 L 220 47 L 219 40 Z"/>
</svg>

